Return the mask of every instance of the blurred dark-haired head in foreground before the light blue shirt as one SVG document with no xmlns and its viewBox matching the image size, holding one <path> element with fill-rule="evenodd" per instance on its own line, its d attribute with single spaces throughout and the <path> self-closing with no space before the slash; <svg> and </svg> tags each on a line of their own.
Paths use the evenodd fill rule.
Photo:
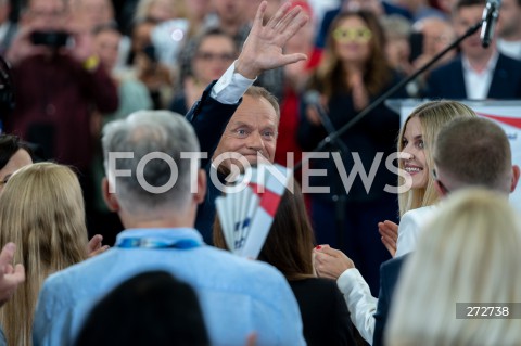
<svg viewBox="0 0 521 346">
<path fill-rule="evenodd" d="M 193 289 L 165 271 L 128 279 L 90 311 L 76 346 L 209 345 Z"/>
</svg>

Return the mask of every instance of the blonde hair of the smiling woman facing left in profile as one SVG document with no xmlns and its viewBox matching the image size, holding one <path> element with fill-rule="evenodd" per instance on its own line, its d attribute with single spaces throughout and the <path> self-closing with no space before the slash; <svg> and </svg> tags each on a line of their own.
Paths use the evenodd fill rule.
<svg viewBox="0 0 521 346">
<path fill-rule="evenodd" d="M 404 150 L 404 133 L 409 120 L 417 116 L 420 119 L 421 132 L 424 143 L 424 154 L 427 167 L 424 169 L 432 169 L 434 167 L 434 159 L 432 150 L 440 129 L 449 120 L 457 117 L 476 117 L 478 115 L 469 106 L 456 101 L 431 101 L 425 102 L 416 107 L 412 113 L 405 120 L 404 126 L 398 134 L 398 152 Z M 461 143 L 463 144 L 463 143 Z M 404 161 L 398 161 L 398 168 L 405 169 Z M 404 178 L 398 178 L 398 185 L 403 185 Z M 398 195 L 399 216 L 404 215 L 410 209 L 433 205 L 439 201 L 436 190 L 434 189 L 434 180 L 429 172 L 427 187 L 420 189 L 410 189 L 405 193 Z"/>
</svg>

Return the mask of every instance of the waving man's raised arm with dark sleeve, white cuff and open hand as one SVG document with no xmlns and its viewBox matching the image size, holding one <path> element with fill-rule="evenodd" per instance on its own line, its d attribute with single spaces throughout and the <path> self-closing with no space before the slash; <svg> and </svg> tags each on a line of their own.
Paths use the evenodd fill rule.
<svg viewBox="0 0 521 346">
<path fill-rule="evenodd" d="M 213 82 L 187 114 L 201 143 L 201 151 L 212 157 L 225 128 L 244 92 L 264 71 L 307 59 L 303 53 L 284 54 L 285 42 L 309 20 L 301 7 L 290 10 L 282 4 L 264 25 L 267 2 L 258 7 L 252 30 L 238 60 L 217 82 Z M 208 159 L 203 161 L 204 166 Z"/>
</svg>

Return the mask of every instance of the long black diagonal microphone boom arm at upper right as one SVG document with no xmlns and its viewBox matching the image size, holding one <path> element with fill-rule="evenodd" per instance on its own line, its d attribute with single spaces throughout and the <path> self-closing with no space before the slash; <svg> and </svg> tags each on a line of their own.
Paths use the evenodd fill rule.
<svg viewBox="0 0 521 346">
<path fill-rule="evenodd" d="M 456 40 L 454 40 L 454 42 L 452 42 L 443 51 L 441 51 L 440 53 L 434 55 L 425 65 L 418 68 L 414 74 L 411 74 L 410 76 L 402 79 L 398 84 L 394 85 L 392 88 L 390 88 L 387 91 L 385 91 L 382 95 L 380 95 L 380 98 L 374 100 L 371 104 L 369 104 L 366 108 L 364 108 L 360 113 L 358 113 L 353 119 L 351 119 L 347 124 L 342 126 L 338 131 L 335 131 L 333 133 L 329 133 L 329 136 L 327 136 L 323 140 L 321 140 L 318 143 L 318 145 L 312 152 L 319 152 L 319 151 L 323 150 L 326 148 L 326 145 L 328 145 L 329 143 L 332 143 L 332 142 L 336 141 L 339 139 L 339 137 L 344 134 L 356 123 L 358 123 L 366 115 L 371 113 L 376 107 L 378 107 L 380 104 L 382 104 L 386 99 L 389 99 L 391 95 L 393 95 L 396 91 L 398 91 L 401 88 L 403 88 L 404 86 L 406 86 L 410 81 L 415 80 L 419 75 L 424 73 L 429 67 L 431 67 L 435 62 L 437 62 L 443 55 L 445 55 L 447 52 L 449 52 L 450 50 L 458 47 L 458 44 L 461 41 L 463 41 L 466 38 L 468 38 L 469 36 L 472 36 L 475 31 L 478 31 L 481 28 L 483 22 L 484 22 L 484 20 L 481 20 L 480 22 L 478 22 L 476 24 L 474 24 L 473 26 L 468 28 L 467 31 L 462 36 L 456 38 Z M 303 157 L 298 163 L 295 164 L 295 166 L 293 167 L 293 171 L 297 171 L 298 169 L 301 169 L 303 163 L 308 161 L 308 159 L 309 158 Z"/>
</svg>

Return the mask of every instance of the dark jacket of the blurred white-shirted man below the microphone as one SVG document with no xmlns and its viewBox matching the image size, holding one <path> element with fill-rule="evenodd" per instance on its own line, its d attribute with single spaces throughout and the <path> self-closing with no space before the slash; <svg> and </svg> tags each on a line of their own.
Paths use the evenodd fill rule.
<svg viewBox="0 0 521 346">
<path fill-rule="evenodd" d="M 430 74 L 424 95 L 429 99 L 468 99 L 461 55 Z M 499 54 L 487 98 L 521 98 L 521 61 Z"/>
</svg>

